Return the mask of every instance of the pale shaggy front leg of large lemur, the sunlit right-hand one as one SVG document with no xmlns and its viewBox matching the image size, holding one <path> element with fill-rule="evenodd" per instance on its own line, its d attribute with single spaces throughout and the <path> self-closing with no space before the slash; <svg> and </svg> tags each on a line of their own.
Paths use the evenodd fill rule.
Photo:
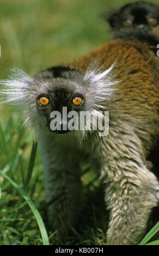
<svg viewBox="0 0 159 256">
<path fill-rule="evenodd" d="M 102 177 L 106 203 L 111 211 L 109 245 L 133 245 L 146 227 L 151 209 L 157 205 L 157 179 L 143 161 L 139 138 L 133 132 L 103 138 L 102 154 L 107 156 Z M 105 151 L 106 150 L 106 151 Z M 104 153 L 105 152 L 105 153 Z"/>
</svg>

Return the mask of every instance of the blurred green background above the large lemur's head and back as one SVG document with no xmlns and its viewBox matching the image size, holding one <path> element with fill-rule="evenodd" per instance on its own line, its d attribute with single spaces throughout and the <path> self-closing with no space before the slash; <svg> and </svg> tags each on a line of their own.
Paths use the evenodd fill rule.
<svg viewBox="0 0 159 256">
<path fill-rule="evenodd" d="M 32 75 L 87 53 L 109 39 L 99 13 L 130 2 L 135 1 L 1 0 L 1 79 L 9 66 Z"/>
</svg>

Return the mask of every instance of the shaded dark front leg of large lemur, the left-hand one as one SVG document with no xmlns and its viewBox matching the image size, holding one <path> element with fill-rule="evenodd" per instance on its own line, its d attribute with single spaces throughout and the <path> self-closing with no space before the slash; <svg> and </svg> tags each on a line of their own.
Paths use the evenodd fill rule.
<svg viewBox="0 0 159 256">
<path fill-rule="evenodd" d="M 60 143 L 42 142 L 41 153 L 45 175 L 48 220 L 63 236 L 77 221 L 81 180 L 77 154 Z"/>
</svg>

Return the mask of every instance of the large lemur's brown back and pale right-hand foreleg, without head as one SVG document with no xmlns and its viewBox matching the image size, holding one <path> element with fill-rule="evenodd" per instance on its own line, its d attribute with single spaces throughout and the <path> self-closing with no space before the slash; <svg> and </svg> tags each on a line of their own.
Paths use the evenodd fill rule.
<svg viewBox="0 0 159 256">
<path fill-rule="evenodd" d="M 111 245 L 134 244 L 157 203 L 157 180 L 143 161 L 159 136 L 159 72 L 148 46 L 136 40 L 107 42 L 70 66 L 84 72 L 96 57 L 105 68 L 118 60 L 113 74 L 121 81 L 114 86 L 118 94 L 109 106 L 109 135 L 102 138 L 99 154 L 111 210 L 107 239 Z"/>
</svg>

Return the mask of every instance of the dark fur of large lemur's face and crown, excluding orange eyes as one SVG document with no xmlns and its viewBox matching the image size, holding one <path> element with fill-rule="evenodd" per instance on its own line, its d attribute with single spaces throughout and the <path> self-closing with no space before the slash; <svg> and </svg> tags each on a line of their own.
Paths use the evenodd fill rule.
<svg viewBox="0 0 159 256">
<path fill-rule="evenodd" d="M 60 114 L 63 113 L 63 107 L 67 107 L 67 111 L 76 111 L 77 113 L 79 113 L 80 111 L 85 111 L 85 100 L 84 100 L 84 95 L 87 94 L 87 90 L 85 90 L 85 84 L 83 83 L 78 83 L 74 81 L 74 77 L 79 78 L 79 81 L 82 81 L 82 77 L 83 75 L 80 74 L 80 72 L 78 72 L 75 69 L 70 69 L 67 66 L 54 66 L 51 68 L 46 69 L 45 71 L 41 71 L 39 72 L 39 74 L 37 74 L 35 76 L 35 80 L 36 81 L 41 81 L 45 84 L 45 82 L 47 81 L 47 83 L 50 83 L 49 87 L 44 87 L 43 92 L 41 95 L 39 95 L 38 97 L 44 95 L 46 97 L 48 97 L 49 99 L 49 103 L 47 106 L 39 106 L 39 104 L 37 104 L 37 111 L 39 112 L 39 115 L 41 116 L 45 116 L 46 120 L 47 120 L 47 127 L 48 130 L 52 131 L 50 129 L 50 123 L 51 123 L 51 118 L 50 118 L 50 114 L 53 111 L 58 111 Z M 65 80 L 66 78 L 66 80 Z M 81 82 L 80 81 L 80 82 Z M 76 97 L 76 96 L 81 96 L 83 99 L 83 102 L 80 106 L 76 106 L 74 105 L 74 103 L 72 102 L 72 100 Z M 65 123 L 63 123 L 63 117 L 61 120 L 61 123 L 58 124 L 61 126 L 62 130 L 55 130 L 54 132 L 56 133 L 67 133 L 69 132 L 68 129 L 68 121 L 69 118 L 67 120 L 65 120 Z M 64 130 L 63 126 L 66 125 L 67 129 Z"/>
</svg>

